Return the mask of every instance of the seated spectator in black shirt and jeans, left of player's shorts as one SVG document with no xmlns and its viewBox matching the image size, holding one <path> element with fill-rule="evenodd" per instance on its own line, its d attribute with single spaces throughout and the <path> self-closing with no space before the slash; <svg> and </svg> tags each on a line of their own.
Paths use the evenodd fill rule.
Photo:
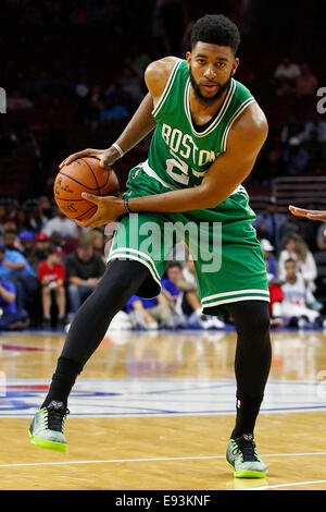
<svg viewBox="0 0 326 512">
<path fill-rule="evenodd" d="M 70 319 L 91 294 L 105 270 L 102 258 L 93 253 L 91 242 L 80 237 L 77 249 L 65 261 L 68 283 Z"/>
</svg>

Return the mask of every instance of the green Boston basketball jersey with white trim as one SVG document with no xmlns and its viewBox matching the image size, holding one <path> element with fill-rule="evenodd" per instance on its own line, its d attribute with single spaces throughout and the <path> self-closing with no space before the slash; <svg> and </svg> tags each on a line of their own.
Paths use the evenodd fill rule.
<svg viewBox="0 0 326 512">
<path fill-rule="evenodd" d="M 204 131 L 197 132 L 191 120 L 189 93 L 187 61 L 179 60 L 152 111 L 156 129 L 148 161 L 142 163 L 147 174 L 172 190 L 201 183 L 215 158 L 226 150 L 227 135 L 234 121 L 255 101 L 244 85 L 231 78 L 217 115 Z"/>
</svg>

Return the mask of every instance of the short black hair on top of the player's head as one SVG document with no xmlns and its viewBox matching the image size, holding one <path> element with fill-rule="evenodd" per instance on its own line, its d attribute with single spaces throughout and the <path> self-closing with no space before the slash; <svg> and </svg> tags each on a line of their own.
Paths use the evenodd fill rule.
<svg viewBox="0 0 326 512">
<path fill-rule="evenodd" d="M 191 49 L 198 41 L 229 46 L 236 54 L 240 45 L 240 34 L 237 25 L 223 14 L 205 14 L 192 27 Z"/>
</svg>

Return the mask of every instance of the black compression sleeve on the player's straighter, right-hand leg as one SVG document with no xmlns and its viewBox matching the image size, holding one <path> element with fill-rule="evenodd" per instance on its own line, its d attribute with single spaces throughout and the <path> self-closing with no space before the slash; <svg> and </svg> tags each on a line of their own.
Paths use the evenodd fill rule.
<svg viewBox="0 0 326 512">
<path fill-rule="evenodd" d="M 272 345 L 269 314 L 265 301 L 228 304 L 238 340 L 235 358 L 237 379 L 237 420 L 231 438 L 253 434 L 269 374 Z"/>
</svg>

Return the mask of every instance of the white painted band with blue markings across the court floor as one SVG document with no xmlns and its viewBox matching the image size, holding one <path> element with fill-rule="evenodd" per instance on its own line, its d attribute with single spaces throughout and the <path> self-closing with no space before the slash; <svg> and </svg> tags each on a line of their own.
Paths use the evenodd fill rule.
<svg viewBox="0 0 326 512">
<path fill-rule="evenodd" d="M 4 382 L 3 382 L 4 385 Z M 1 389 L 0 417 L 32 416 L 48 381 L 8 380 Z M 187 416 L 235 413 L 233 379 L 80 379 L 70 399 L 72 416 Z M 326 411 L 326 385 L 269 380 L 262 412 Z"/>
</svg>

